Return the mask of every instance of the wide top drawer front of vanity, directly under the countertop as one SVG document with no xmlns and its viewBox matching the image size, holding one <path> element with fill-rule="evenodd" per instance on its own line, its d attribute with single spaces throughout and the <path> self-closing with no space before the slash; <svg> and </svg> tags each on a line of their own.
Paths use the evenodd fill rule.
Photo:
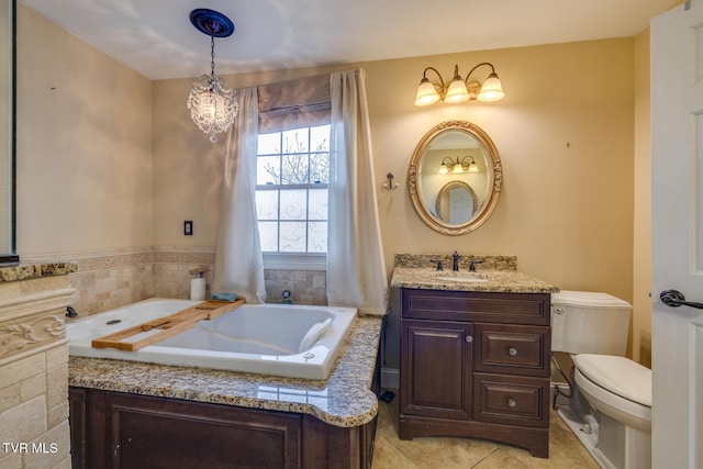
<svg viewBox="0 0 703 469">
<path fill-rule="evenodd" d="M 549 293 L 402 290 L 403 317 L 549 325 Z"/>
</svg>

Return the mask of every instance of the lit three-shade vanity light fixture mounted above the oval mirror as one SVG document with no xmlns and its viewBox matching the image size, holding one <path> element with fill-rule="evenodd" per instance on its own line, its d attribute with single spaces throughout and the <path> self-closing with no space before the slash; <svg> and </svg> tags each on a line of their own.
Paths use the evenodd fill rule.
<svg viewBox="0 0 703 469">
<path fill-rule="evenodd" d="M 470 80 L 469 78 L 471 78 L 473 70 L 481 66 L 491 67 L 491 72 L 486 80 L 483 80 L 483 82 L 477 79 Z M 427 78 L 427 70 L 434 71 L 437 77 L 439 77 L 439 85 L 429 81 L 429 78 Z M 482 62 L 471 68 L 471 71 L 469 71 L 469 75 L 466 76 L 465 80 L 462 80 L 459 75 L 459 66 L 455 65 L 454 78 L 446 85 L 436 68 L 427 67 L 422 72 L 422 80 L 417 87 L 417 93 L 415 94 L 415 105 L 429 105 L 439 100 L 448 103 L 457 103 L 476 99 L 479 101 L 491 102 L 500 101 L 504 96 L 505 93 L 503 92 L 501 79 L 498 78 L 498 74 L 495 72 L 493 65 L 488 62 Z"/>
</svg>

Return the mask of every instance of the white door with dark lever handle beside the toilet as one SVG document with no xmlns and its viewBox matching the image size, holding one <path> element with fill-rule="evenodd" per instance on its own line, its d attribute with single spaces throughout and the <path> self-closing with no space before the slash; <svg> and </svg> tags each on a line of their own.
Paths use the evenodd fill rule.
<svg viewBox="0 0 703 469">
<path fill-rule="evenodd" d="M 651 21 L 652 467 L 703 468 L 703 0 Z"/>
</svg>

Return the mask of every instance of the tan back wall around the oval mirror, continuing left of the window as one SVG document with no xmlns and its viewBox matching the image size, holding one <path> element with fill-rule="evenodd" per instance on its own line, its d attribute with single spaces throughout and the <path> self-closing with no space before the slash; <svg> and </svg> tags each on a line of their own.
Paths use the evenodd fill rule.
<svg viewBox="0 0 703 469">
<path fill-rule="evenodd" d="M 360 64 L 389 271 L 395 253 L 516 255 L 520 270 L 563 289 L 607 291 L 632 301 L 634 44 L 623 38 Z M 503 101 L 413 105 L 424 67 L 449 74 L 458 63 L 466 72 L 482 60 L 495 65 L 507 93 Z M 242 87 L 291 75 L 226 78 Z M 189 82 L 154 85 L 155 245 L 211 246 L 215 239 L 225 138 L 213 147 L 189 121 Z M 493 216 L 459 237 L 425 226 L 405 189 L 417 141 L 450 119 L 487 131 L 504 170 Z M 380 188 L 388 171 L 402 190 Z M 196 235 L 182 236 L 182 221 L 191 219 Z"/>
</svg>

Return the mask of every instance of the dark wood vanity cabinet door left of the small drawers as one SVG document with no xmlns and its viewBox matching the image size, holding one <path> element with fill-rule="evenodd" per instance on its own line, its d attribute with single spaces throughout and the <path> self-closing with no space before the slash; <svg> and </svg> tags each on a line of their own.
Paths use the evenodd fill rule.
<svg viewBox="0 0 703 469">
<path fill-rule="evenodd" d="M 472 325 L 401 321 L 401 414 L 471 417 Z"/>
</svg>

